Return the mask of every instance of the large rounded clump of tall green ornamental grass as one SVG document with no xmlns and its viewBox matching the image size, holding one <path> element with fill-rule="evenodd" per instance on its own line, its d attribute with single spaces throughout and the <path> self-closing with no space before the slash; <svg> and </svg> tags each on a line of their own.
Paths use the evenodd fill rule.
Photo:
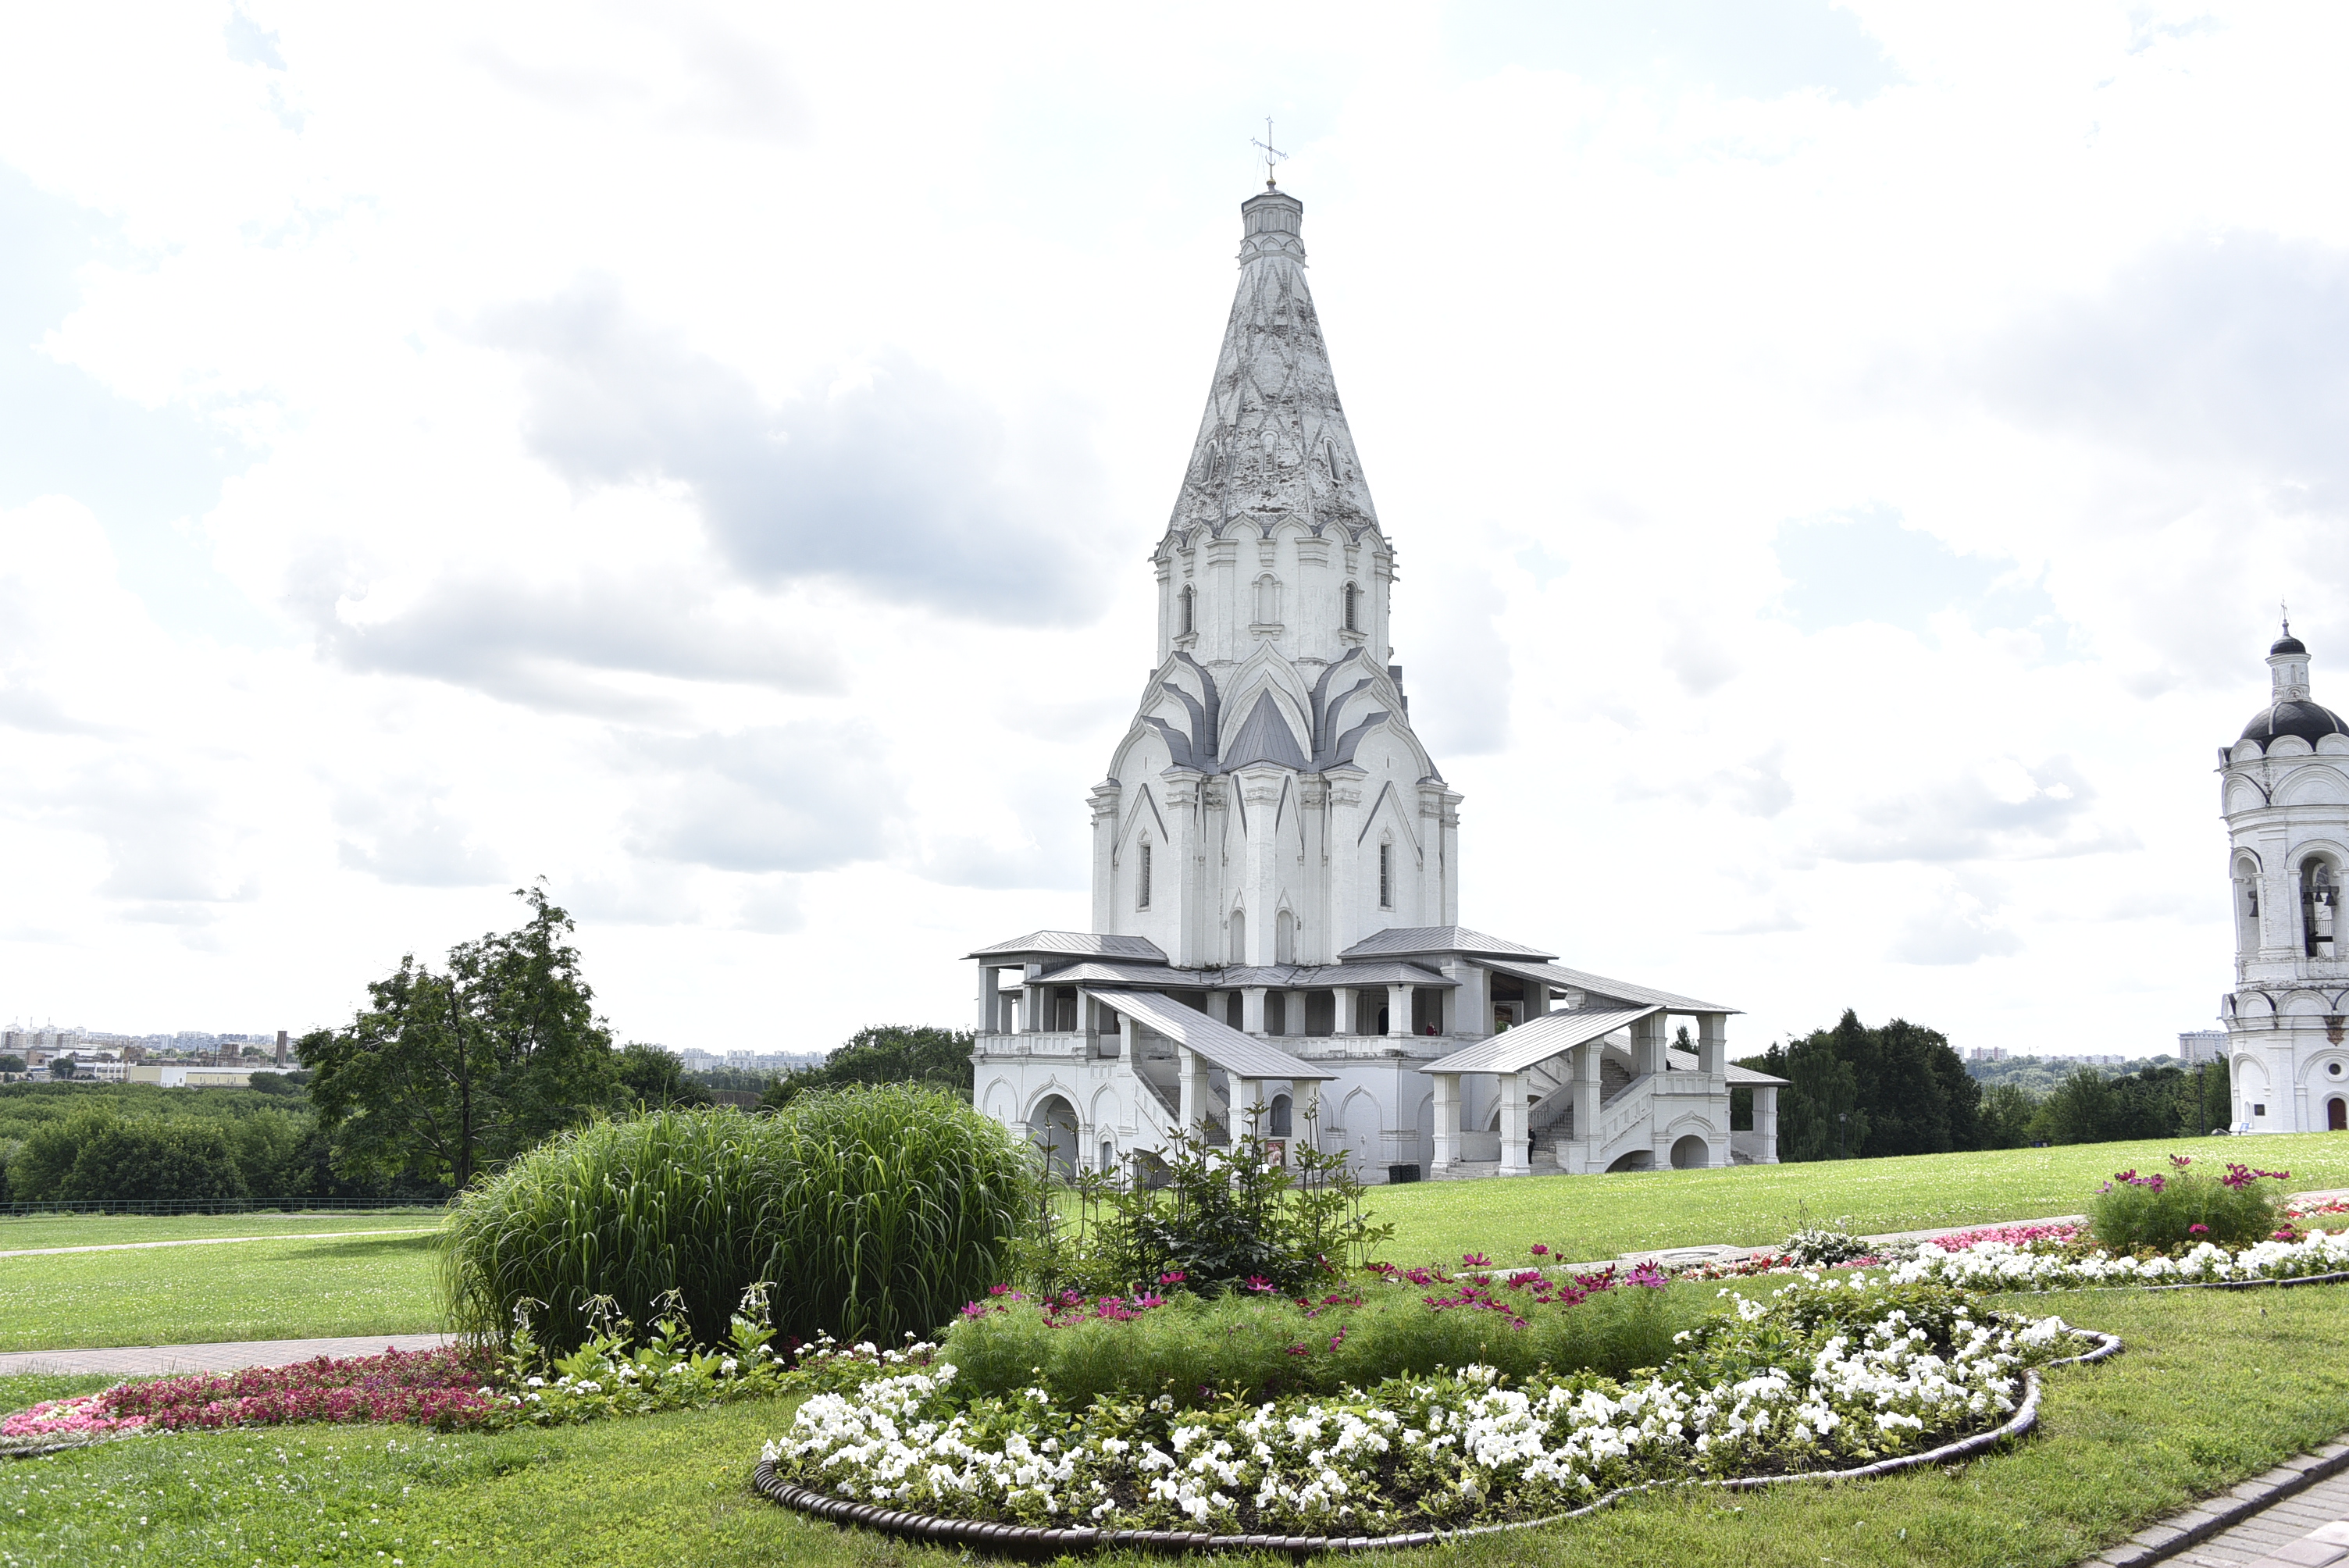
<svg viewBox="0 0 2349 1568">
<path fill-rule="evenodd" d="M 761 1282 L 785 1345 L 890 1345 L 1003 1279 L 1031 1190 L 1027 1153 L 933 1089 L 834 1089 L 775 1115 L 658 1110 L 550 1138 L 465 1192 L 444 1286 L 451 1322 L 500 1345 L 517 1307 L 554 1352 L 611 1314 L 674 1314 L 723 1345 Z"/>
</svg>

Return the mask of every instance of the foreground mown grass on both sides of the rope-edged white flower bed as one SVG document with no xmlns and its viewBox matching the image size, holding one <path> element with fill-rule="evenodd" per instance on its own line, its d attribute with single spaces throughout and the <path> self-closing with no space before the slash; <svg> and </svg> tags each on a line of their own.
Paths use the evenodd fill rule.
<svg viewBox="0 0 2349 1568">
<path fill-rule="evenodd" d="M 2039 1434 L 2006 1453 L 1858 1486 L 1644 1498 L 1402 1561 L 2065 1568 L 2349 1427 L 2349 1296 L 2337 1286 L 2018 1305 L 2112 1329 L 2128 1352 L 2058 1368 Z M 240 1568 L 965 1561 L 749 1495 L 759 1441 L 785 1413 L 735 1406 L 498 1437 L 280 1427 L 108 1444 L 0 1469 L 0 1561 L 89 1563 L 117 1549 L 124 1561 L 143 1552 Z"/>
</svg>

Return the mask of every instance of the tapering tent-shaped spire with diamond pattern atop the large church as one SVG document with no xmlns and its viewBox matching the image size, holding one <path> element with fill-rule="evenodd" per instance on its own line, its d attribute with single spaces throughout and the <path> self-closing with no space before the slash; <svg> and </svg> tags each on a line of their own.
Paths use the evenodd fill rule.
<svg viewBox="0 0 2349 1568">
<path fill-rule="evenodd" d="M 1306 289 L 1304 211 L 1285 190 L 1240 202 L 1240 291 L 1170 530 L 1268 533 L 1283 516 L 1341 538 L 1379 526 Z"/>
</svg>

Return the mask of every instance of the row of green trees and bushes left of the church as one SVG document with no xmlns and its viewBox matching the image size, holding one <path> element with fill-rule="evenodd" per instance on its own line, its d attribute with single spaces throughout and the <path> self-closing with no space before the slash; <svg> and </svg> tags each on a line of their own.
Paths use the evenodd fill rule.
<svg viewBox="0 0 2349 1568">
<path fill-rule="evenodd" d="M 597 1115 L 712 1103 L 672 1052 L 613 1042 L 571 915 L 545 885 L 517 897 L 519 927 L 460 941 L 437 965 L 409 953 L 350 1023 L 303 1035 L 303 1073 L 256 1075 L 254 1089 L 7 1084 L 7 1197 L 442 1202 Z M 759 1110 L 848 1082 L 968 1099 L 970 1045 L 942 1028 L 867 1028 L 820 1068 L 742 1087 L 763 1089 Z"/>
</svg>

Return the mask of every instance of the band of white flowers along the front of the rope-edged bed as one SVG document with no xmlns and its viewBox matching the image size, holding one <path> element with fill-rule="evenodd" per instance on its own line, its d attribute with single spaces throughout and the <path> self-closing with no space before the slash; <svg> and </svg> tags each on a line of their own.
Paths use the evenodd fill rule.
<svg viewBox="0 0 2349 1568">
<path fill-rule="evenodd" d="M 1367 1535 L 1536 1519 L 1623 1486 L 1839 1469 L 1987 1432 L 2022 1371 L 2081 1347 L 1933 1284 L 1736 1298 L 1656 1373 L 1470 1364 L 1337 1397 L 1179 1408 L 958 1387 L 951 1361 L 801 1404 L 780 1486 L 916 1514 L 1214 1535 Z"/>
</svg>

